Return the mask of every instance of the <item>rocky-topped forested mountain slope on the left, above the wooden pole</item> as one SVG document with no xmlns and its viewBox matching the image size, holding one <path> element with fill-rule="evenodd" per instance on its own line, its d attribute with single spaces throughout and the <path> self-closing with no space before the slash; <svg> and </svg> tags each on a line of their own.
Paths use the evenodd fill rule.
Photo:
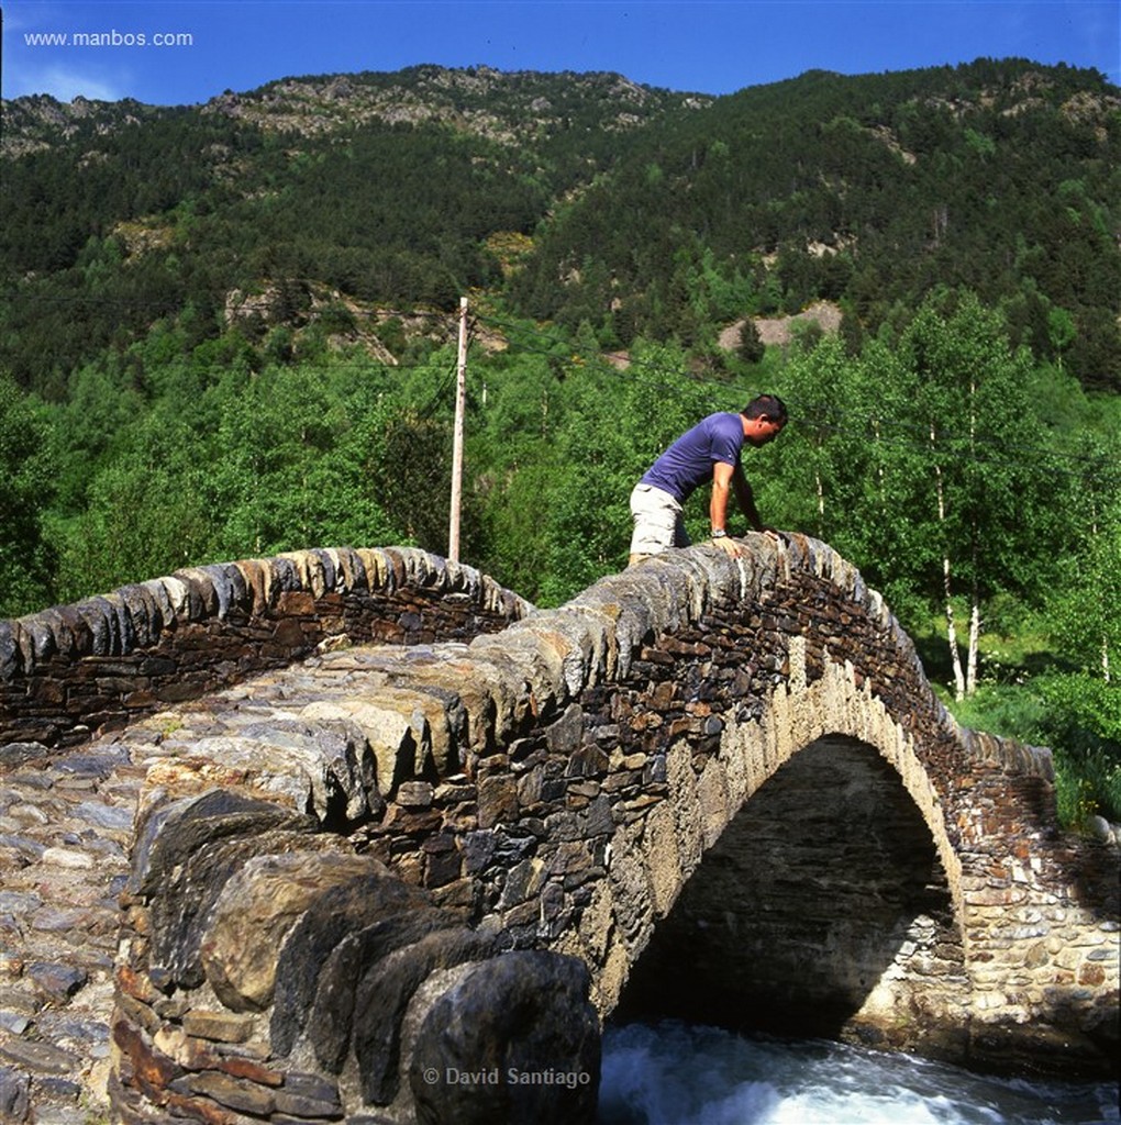
<svg viewBox="0 0 1121 1125">
<path fill-rule="evenodd" d="M 413 308 L 500 282 L 532 231 L 646 123 L 707 99 L 615 74 L 421 66 L 292 79 L 205 106 L 3 104 L 0 368 L 51 397 L 161 317 L 194 343 L 235 291 L 308 285 Z"/>
</svg>

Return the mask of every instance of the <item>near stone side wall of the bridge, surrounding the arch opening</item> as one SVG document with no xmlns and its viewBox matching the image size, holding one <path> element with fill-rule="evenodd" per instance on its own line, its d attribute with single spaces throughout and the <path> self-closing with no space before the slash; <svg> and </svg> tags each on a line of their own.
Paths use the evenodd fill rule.
<svg viewBox="0 0 1121 1125">
<path fill-rule="evenodd" d="M 218 781 L 254 809 L 306 818 L 283 838 L 246 832 L 237 809 L 201 818 L 189 854 L 165 865 L 187 873 L 170 888 L 143 878 L 159 834 L 142 835 L 114 1024 L 131 1119 L 170 1105 L 214 1122 L 414 1119 L 424 1097 L 448 1094 L 442 1078 L 434 1089 L 418 1078 L 416 1061 L 439 1056 L 424 1028 L 478 965 L 521 954 L 586 965 L 606 1016 L 739 809 L 834 735 L 897 773 L 945 904 L 941 929 L 900 950 L 894 991 L 866 1006 L 862 1026 L 975 1061 L 1046 1068 L 1062 1045 L 1065 1068 L 1111 1064 L 1115 850 L 1059 836 L 1047 753 L 959 730 L 878 595 L 824 544 L 753 540 L 738 562 L 675 552 L 469 645 L 325 652 L 249 686 L 182 708 L 173 728 L 150 719 L 123 736 L 147 771 L 146 824 L 213 800 Z M 312 890 L 284 904 L 270 872 L 294 855 Z M 350 929 L 316 929 L 338 915 L 331 896 L 353 896 L 375 871 L 413 889 L 410 909 L 437 935 L 456 936 L 361 914 Z M 257 904 L 236 929 L 223 902 L 234 881 L 237 901 Z M 190 927 L 161 926 L 185 902 Z M 393 932 L 402 944 L 388 956 L 419 960 L 385 1007 L 375 984 Z M 294 960 L 298 942 L 316 955 Z M 934 948 L 957 966 L 948 983 L 921 963 Z M 295 973 L 297 994 L 231 984 L 246 950 L 266 980 Z M 360 982 L 361 1026 L 340 981 L 351 996 Z M 911 1025 L 889 1023 L 916 989 Z M 535 1063 L 591 1073 L 573 1058 L 553 1043 Z M 276 1092 L 312 1088 L 303 1116 Z M 445 1110 L 425 1119 L 472 1119 L 463 1105 Z"/>
</svg>

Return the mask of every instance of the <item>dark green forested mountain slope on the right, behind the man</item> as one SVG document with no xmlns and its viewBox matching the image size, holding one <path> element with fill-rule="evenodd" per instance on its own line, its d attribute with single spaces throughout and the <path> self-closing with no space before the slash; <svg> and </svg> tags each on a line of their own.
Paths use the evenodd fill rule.
<svg viewBox="0 0 1121 1125">
<path fill-rule="evenodd" d="M 647 129 L 546 224 L 514 292 L 625 340 L 696 339 L 745 305 L 815 297 L 876 331 L 896 303 L 963 285 L 1037 354 L 1119 389 L 1118 93 L 1019 61 L 751 88 Z"/>
</svg>

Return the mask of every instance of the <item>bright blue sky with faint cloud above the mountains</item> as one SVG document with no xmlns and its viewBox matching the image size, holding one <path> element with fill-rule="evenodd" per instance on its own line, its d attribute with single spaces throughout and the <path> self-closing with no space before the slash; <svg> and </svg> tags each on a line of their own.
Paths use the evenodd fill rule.
<svg viewBox="0 0 1121 1125">
<path fill-rule="evenodd" d="M 0 94 L 154 105 L 415 63 L 729 93 L 1015 55 L 1121 83 L 1121 0 L 0 0 Z M 75 39 L 77 36 L 77 39 Z"/>
</svg>

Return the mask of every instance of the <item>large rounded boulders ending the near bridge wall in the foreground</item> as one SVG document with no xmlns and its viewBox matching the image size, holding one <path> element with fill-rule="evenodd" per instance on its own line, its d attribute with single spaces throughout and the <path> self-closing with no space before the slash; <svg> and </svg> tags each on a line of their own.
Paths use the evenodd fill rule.
<svg viewBox="0 0 1121 1125">
<path fill-rule="evenodd" d="M 110 1095 L 127 1125 L 594 1117 L 584 964 L 512 951 L 313 818 L 232 790 L 156 807 L 123 902 Z M 460 1089 L 449 1070 L 502 1081 Z"/>
</svg>

